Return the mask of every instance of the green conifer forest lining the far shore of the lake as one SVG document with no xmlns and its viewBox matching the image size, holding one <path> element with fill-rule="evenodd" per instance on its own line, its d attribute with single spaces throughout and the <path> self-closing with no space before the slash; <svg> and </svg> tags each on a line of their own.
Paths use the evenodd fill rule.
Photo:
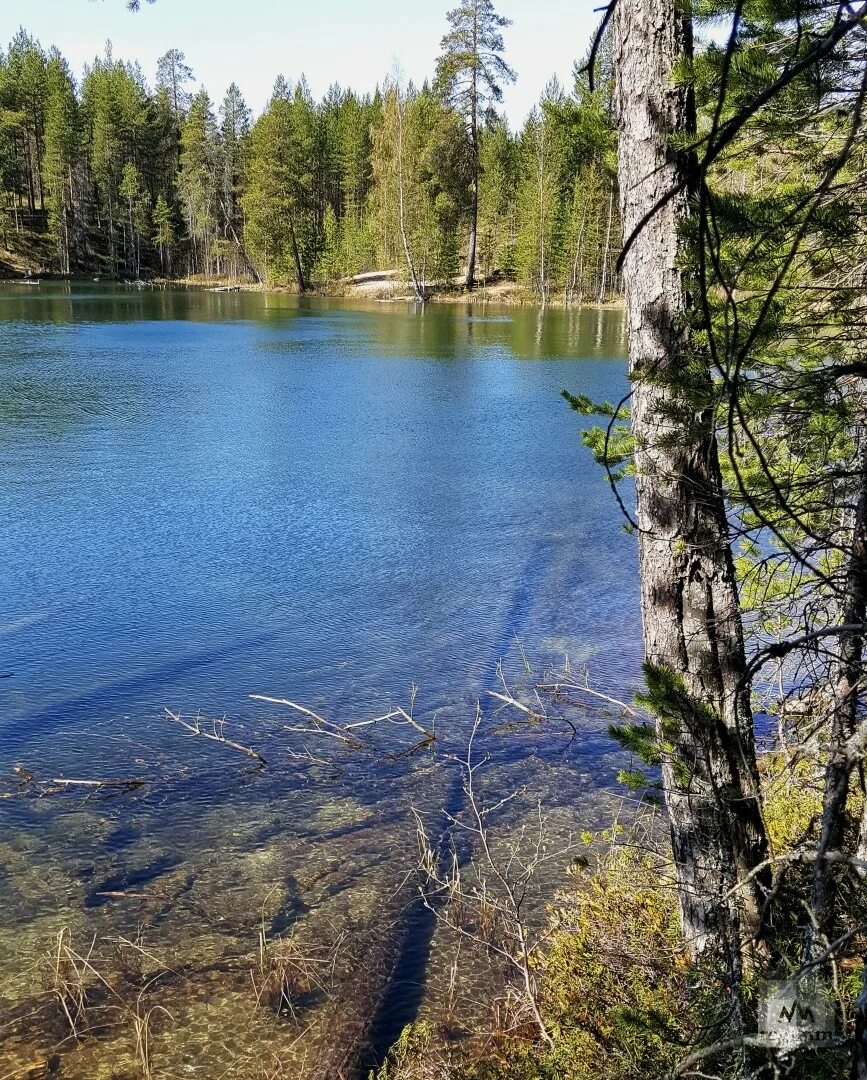
<svg viewBox="0 0 867 1080">
<path fill-rule="evenodd" d="M 472 102 L 444 39 L 431 82 L 334 84 L 317 102 L 281 76 L 255 121 L 234 82 L 219 104 L 194 91 L 178 50 L 153 86 L 110 44 L 77 81 L 22 29 L 0 53 L 0 243 L 40 240 L 62 274 L 304 289 L 396 269 L 426 291 L 465 273 L 472 241 L 473 281 L 602 300 L 620 231 L 611 80 L 552 80 L 512 132 L 497 109 L 505 21 L 491 17 L 502 67 Z"/>
</svg>

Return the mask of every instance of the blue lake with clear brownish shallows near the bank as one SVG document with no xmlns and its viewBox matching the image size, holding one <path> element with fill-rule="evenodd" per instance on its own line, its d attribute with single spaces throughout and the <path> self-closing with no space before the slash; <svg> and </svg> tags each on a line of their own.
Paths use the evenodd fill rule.
<svg viewBox="0 0 867 1080">
<path fill-rule="evenodd" d="M 362 1075 L 451 962 L 398 887 L 476 702 L 491 797 L 526 787 L 505 829 L 617 788 L 604 708 L 570 739 L 488 691 L 637 684 L 634 543 L 559 394 L 622 396 L 622 315 L 8 284 L 0 330 L 0 1076 L 126 1076 L 151 977 L 172 1076 L 299 1042 Z M 412 699 L 436 742 L 252 694 L 339 725 Z M 57 957 L 93 984 L 71 1020 Z"/>
</svg>

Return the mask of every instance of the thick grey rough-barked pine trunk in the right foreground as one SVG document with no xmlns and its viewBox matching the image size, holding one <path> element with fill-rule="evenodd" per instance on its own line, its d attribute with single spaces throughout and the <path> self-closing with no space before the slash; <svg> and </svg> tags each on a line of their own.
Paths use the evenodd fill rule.
<svg viewBox="0 0 867 1080">
<path fill-rule="evenodd" d="M 614 23 L 628 238 L 687 175 L 690 159 L 672 140 L 694 132 L 695 108 L 674 72 L 692 32 L 678 0 L 619 0 Z M 747 876 L 767 838 L 714 421 L 696 404 L 709 399 L 710 378 L 690 364 L 688 194 L 650 218 L 624 264 L 641 612 L 648 664 L 686 689 L 658 720 L 683 934 L 693 956 L 719 957 L 735 989 L 742 948 L 760 933 L 767 880 Z"/>
</svg>

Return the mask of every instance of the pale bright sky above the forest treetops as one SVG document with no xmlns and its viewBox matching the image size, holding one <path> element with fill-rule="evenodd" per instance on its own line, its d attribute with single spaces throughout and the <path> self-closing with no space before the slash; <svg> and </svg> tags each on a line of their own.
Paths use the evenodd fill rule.
<svg viewBox="0 0 867 1080">
<path fill-rule="evenodd" d="M 499 0 L 513 21 L 506 59 L 518 73 L 505 89 L 510 123 L 519 126 L 556 75 L 571 85 L 599 18 L 600 0 Z M 149 82 L 157 59 L 180 49 L 217 103 L 234 80 L 255 113 L 274 79 L 303 73 L 315 97 L 331 82 L 372 91 L 395 60 L 422 82 L 434 70 L 445 13 L 456 0 L 157 0 L 137 14 L 124 0 L 0 0 L 2 48 L 24 26 L 45 48 L 57 45 L 77 77 L 110 40 L 114 56 L 138 59 Z"/>
</svg>

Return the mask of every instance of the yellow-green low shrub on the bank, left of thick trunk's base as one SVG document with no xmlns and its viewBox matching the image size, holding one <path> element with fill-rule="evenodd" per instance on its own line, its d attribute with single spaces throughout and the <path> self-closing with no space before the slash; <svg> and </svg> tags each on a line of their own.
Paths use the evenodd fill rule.
<svg viewBox="0 0 867 1080">
<path fill-rule="evenodd" d="M 473 1080 L 667 1080 L 712 1016 L 659 861 L 628 842 L 599 848 L 552 913 L 540 997 L 554 1045 L 505 1042 Z"/>
</svg>

